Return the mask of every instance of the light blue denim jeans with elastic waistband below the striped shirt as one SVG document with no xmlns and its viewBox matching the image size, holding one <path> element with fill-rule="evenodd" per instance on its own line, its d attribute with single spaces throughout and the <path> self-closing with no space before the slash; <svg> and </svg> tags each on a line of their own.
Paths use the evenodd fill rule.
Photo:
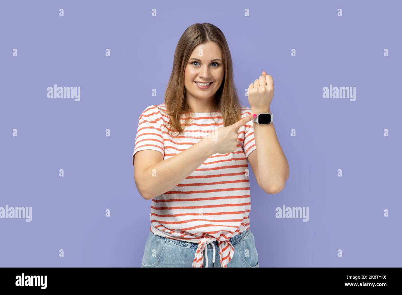
<svg viewBox="0 0 402 295">
<path fill-rule="evenodd" d="M 258 253 L 254 244 L 254 236 L 250 230 L 246 230 L 229 238 L 234 248 L 234 255 L 228 267 L 260 267 L 258 265 Z M 197 243 L 179 241 L 157 236 L 150 232 L 144 250 L 141 267 L 191 267 L 193 264 Z M 213 267 L 221 267 L 219 262 L 219 245 L 213 242 L 215 247 L 215 263 Z M 207 244 L 208 267 L 212 267 L 213 248 Z M 205 253 L 205 252 L 203 252 Z M 206 265 L 204 254 L 203 265 Z"/>
</svg>

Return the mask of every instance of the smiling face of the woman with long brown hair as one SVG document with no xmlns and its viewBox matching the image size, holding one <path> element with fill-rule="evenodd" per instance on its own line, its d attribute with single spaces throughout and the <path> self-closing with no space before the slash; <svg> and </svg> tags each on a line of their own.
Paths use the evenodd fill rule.
<svg viewBox="0 0 402 295">
<path fill-rule="evenodd" d="M 221 86 L 223 78 L 224 65 L 222 52 L 218 45 L 208 41 L 195 47 L 184 71 L 184 86 L 189 105 L 210 104 Z M 196 82 L 211 83 L 198 85 Z"/>
</svg>

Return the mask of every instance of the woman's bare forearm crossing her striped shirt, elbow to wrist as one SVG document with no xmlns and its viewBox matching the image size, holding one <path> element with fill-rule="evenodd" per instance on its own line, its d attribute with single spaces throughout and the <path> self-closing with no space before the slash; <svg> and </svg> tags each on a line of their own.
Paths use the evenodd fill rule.
<svg viewBox="0 0 402 295">
<path fill-rule="evenodd" d="M 211 140 L 205 137 L 181 153 L 148 167 L 142 173 L 142 196 L 144 199 L 152 199 L 166 193 L 193 173 L 211 155 Z"/>
</svg>

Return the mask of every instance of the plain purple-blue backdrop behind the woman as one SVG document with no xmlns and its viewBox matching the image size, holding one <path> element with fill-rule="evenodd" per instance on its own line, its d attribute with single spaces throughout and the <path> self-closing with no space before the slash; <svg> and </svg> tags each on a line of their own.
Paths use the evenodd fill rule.
<svg viewBox="0 0 402 295">
<path fill-rule="evenodd" d="M 181 34 L 211 22 L 230 46 L 243 106 L 263 70 L 275 82 L 271 111 L 290 177 L 267 195 L 250 176 L 260 266 L 401 267 L 401 6 L 2 1 L 0 207 L 32 207 L 32 221 L 0 219 L 0 266 L 141 264 L 151 202 L 133 179 L 138 117 L 164 102 Z M 81 101 L 47 98 L 53 84 L 81 87 Z M 356 101 L 323 98 L 330 84 L 356 87 Z M 276 219 L 283 204 L 309 207 L 310 220 Z"/>
</svg>

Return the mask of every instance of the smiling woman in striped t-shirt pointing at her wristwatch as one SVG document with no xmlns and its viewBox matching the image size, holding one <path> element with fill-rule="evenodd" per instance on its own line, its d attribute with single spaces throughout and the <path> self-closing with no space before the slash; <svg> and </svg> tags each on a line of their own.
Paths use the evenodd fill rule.
<svg viewBox="0 0 402 295">
<path fill-rule="evenodd" d="M 240 106 L 222 31 L 209 23 L 186 29 L 165 102 L 142 112 L 135 138 L 135 184 L 152 199 L 141 267 L 259 267 L 247 160 L 267 193 L 289 177 L 273 124 L 251 121 L 271 113 L 272 97 L 264 71 L 248 88 L 250 108 Z"/>
</svg>

